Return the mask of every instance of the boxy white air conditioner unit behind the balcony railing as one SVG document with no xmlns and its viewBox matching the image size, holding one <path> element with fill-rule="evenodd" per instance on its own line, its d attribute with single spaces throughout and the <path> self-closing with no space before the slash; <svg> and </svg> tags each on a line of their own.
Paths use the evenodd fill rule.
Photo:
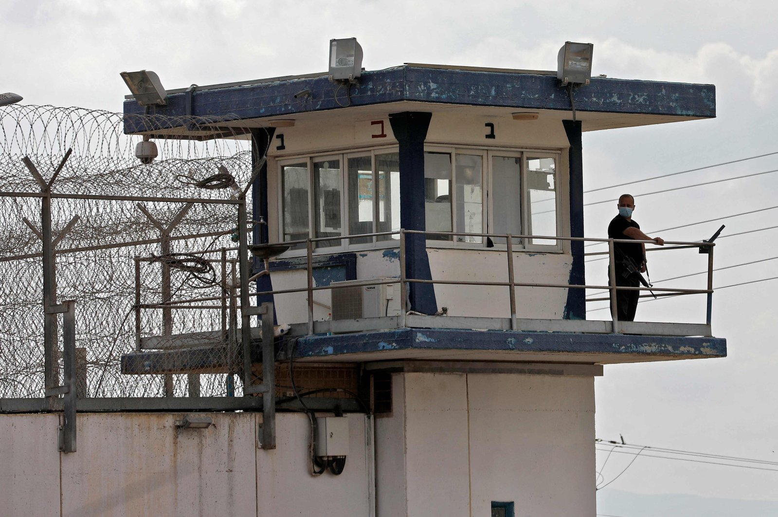
<svg viewBox="0 0 778 517">
<path fill-rule="evenodd" d="M 397 279 L 380 279 L 397 280 Z M 354 283 L 333 282 L 332 319 L 380 318 L 400 315 L 400 283 L 384 283 L 376 286 L 355 286 Z"/>
</svg>

